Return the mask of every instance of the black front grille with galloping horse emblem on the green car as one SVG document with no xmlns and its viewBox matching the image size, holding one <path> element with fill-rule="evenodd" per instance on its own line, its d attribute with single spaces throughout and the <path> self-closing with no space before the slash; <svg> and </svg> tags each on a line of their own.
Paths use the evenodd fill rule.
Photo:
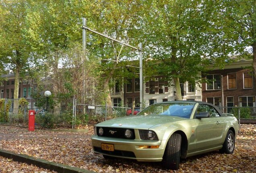
<svg viewBox="0 0 256 173">
<path fill-rule="evenodd" d="M 99 135 L 99 128 L 100 127 L 97 127 L 97 135 Z M 114 138 L 122 138 L 122 139 L 127 139 L 125 136 L 124 136 L 124 133 L 126 131 L 125 128 L 113 128 L 113 127 L 101 127 L 103 128 L 103 137 L 114 137 Z M 130 129 L 132 131 L 132 137 L 130 139 L 135 139 L 135 133 L 134 133 L 134 129 Z M 112 133 L 111 133 L 112 132 Z"/>
</svg>

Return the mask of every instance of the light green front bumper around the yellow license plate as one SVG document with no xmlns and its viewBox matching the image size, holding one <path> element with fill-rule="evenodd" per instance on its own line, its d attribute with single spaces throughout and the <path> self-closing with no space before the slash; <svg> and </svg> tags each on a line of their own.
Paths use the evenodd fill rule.
<svg viewBox="0 0 256 173">
<path fill-rule="evenodd" d="M 97 135 L 93 135 L 91 137 L 91 143 L 93 146 L 93 151 L 95 153 L 126 159 L 136 159 L 137 161 L 162 161 L 167 141 L 118 139 L 111 137 L 99 137 Z M 114 151 L 101 150 L 101 143 L 114 145 Z M 139 146 L 142 145 L 159 145 L 159 148 L 141 149 Z"/>
</svg>

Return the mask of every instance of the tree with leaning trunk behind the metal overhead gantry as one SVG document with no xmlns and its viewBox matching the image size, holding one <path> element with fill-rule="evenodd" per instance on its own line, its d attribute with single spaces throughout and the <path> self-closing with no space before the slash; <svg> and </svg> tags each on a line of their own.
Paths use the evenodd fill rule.
<svg viewBox="0 0 256 173">
<path fill-rule="evenodd" d="M 129 42 L 132 45 L 138 45 L 138 40 L 129 40 L 134 36 L 133 29 L 136 28 L 138 22 L 140 22 L 141 10 L 144 8 L 144 0 L 100 0 L 91 3 L 91 11 L 93 12 L 92 21 L 88 23 L 88 26 L 95 28 L 95 30 L 107 33 L 113 38 L 120 39 L 124 42 Z M 104 26 L 104 27 L 102 27 Z M 97 46 L 99 48 L 95 49 Z M 121 45 L 114 42 L 116 53 L 119 54 Z M 101 36 L 90 36 L 90 43 L 88 49 L 91 50 L 92 54 L 95 54 L 101 61 L 101 69 L 103 73 L 103 90 L 107 93 L 106 102 L 108 105 L 111 104 L 110 88 L 109 85 L 111 78 L 122 78 L 126 77 L 126 70 L 121 68 L 125 66 L 125 62 L 117 63 L 115 50 L 110 40 Z M 127 61 L 134 57 L 136 51 L 124 46 L 118 61 Z M 109 61 L 109 60 L 114 60 Z"/>
</svg>

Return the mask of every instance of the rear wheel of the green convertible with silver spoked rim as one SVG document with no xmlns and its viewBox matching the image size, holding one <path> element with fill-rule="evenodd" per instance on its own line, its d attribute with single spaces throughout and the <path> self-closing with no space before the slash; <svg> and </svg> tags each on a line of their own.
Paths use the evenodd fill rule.
<svg viewBox="0 0 256 173">
<path fill-rule="evenodd" d="M 223 143 L 222 149 L 220 149 L 221 153 L 232 154 L 235 150 L 235 135 L 233 131 L 229 130 L 227 132 L 227 136 L 225 138 L 225 142 Z"/>
</svg>

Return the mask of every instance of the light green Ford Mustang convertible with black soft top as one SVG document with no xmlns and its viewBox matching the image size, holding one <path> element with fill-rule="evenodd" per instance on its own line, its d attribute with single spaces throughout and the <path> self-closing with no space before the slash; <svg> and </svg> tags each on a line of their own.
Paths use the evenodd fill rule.
<svg viewBox="0 0 256 173">
<path fill-rule="evenodd" d="M 94 131 L 93 151 L 104 158 L 162 161 L 167 169 L 179 169 L 180 158 L 218 149 L 233 153 L 238 123 L 209 103 L 170 101 L 99 123 Z"/>
</svg>

